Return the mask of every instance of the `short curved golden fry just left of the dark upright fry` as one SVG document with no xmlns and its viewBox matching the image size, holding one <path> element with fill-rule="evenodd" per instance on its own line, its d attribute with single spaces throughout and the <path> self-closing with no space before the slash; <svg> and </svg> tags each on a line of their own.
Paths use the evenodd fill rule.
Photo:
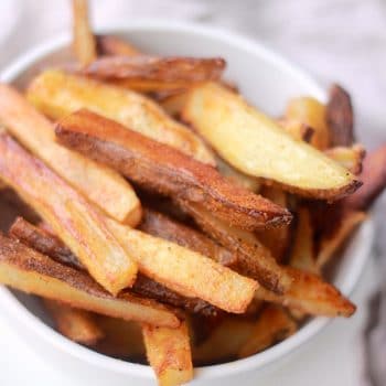
<svg viewBox="0 0 386 386">
<path fill-rule="evenodd" d="M 331 132 L 325 122 L 325 106 L 314 98 L 300 97 L 289 101 L 286 111 L 288 120 L 297 120 L 312 128 L 310 144 L 325 150 L 331 143 Z"/>
</svg>

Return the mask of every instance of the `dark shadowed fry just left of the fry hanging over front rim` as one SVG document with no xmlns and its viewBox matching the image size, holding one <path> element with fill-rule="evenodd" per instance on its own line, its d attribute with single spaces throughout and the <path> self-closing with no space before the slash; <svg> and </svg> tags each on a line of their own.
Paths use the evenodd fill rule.
<svg viewBox="0 0 386 386">
<path fill-rule="evenodd" d="M 94 346 L 96 351 L 120 358 L 144 358 L 144 343 L 139 323 L 99 314 L 95 315 L 95 320 L 105 335 Z"/>
</svg>

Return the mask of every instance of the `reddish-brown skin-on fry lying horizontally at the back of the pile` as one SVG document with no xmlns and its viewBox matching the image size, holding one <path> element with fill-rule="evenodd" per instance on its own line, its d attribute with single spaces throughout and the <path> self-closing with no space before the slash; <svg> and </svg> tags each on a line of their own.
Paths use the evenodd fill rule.
<svg viewBox="0 0 386 386">
<path fill-rule="evenodd" d="M 217 81 L 225 65 L 221 57 L 121 55 L 99 57 L 82 68 L 82 74 L 99 79 L 150 81 L 184 87 L 199 82 Z"/>
</svg>

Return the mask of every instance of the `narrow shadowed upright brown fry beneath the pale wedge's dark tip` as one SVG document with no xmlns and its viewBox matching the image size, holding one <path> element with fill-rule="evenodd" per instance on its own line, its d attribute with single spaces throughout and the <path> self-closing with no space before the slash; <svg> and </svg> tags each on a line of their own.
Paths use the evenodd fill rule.
<svg viewBox="0 0 386 386">
<path fill-rule="evenodd" d="M 294 234 L 289 265 L 312 274 L 320 274 L 313 245 L 313 229 L 307 207 L 298 210 L 298 226 Z"/>
</svg>

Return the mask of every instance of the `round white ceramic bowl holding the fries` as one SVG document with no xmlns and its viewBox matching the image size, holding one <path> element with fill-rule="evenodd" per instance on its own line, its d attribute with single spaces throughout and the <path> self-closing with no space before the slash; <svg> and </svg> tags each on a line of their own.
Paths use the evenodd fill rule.
<svg viewBox="0 0 386 386">
<path fill-rule="evenodd" d="M 146 52 L 171 55 L 223 56 L 227 60 L 227 77 L 235 81 L 243 95 L 271 115 L 279 115 L 290 97 L 311 95 L 325 100 L 325 92 L 301 69 L 274 54 L 262 45 L 234 33 L 207 26 L 160 21 L 130 22 L 127 25 L 104 29 L 105 33 L 127 36 Z M 63 47 L 69 36 L 61 36 L 26 52 L 2 74 L 3 82 L 13 82 L 28 67 L 45 55 Z M 373 223 L 367 221 L 342 256 L 333 282 L 350 294 L 357 282 L 373 242 Z M 73 372 L 78 379 L 94 385 L 150 385 L 153 374 L 148 366 L 114 360 L 77 345 L 56 333 L 35 298 L 0 289 L 1 309 L 19 334 L 30 341 L 49 361 L 62 369 Z M 315 318 L 285 342 L 262 353 L 222 365 L 197 368 L 195 385 L 236 384 L 256 377 L 268 364 L 310 340 L 329 323 Z M 350 323 L 350 320 L 347 321 Z"/>
</svg>

